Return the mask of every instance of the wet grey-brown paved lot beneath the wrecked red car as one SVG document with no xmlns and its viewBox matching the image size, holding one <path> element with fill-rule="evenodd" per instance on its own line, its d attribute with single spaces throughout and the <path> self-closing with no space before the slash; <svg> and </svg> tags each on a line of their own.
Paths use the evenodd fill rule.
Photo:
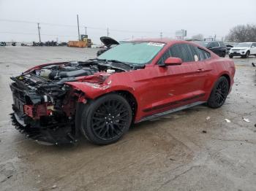
<svg viewBox="0 0 256 191">
<path fill-rule="evenodd" d="M 45 146 L 12 126 L 11 76 L 96 52 L 0 47 L 0 190 L 256 190 L 254 56 L 233 58 L 235 85 L 222 108 L 196 106 L 141 122 L 116 144 Z"/>
</svg>

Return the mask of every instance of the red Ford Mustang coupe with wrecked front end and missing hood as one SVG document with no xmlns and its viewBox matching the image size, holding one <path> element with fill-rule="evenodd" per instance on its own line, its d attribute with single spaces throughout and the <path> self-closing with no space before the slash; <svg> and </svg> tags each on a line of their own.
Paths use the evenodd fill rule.
<svg viewBox="0 0 256 191">
<path fill-rule="evenodd" d="M 80 134 L 110 144 L 132 123 L 198 104 L 224 104 L 233 61 L 197 44 L 143 39 L 119 44 L 98 58 L 50 63 L 10 85 L 13 118 L 34 139 L 74 142 Z"/>
</svg>

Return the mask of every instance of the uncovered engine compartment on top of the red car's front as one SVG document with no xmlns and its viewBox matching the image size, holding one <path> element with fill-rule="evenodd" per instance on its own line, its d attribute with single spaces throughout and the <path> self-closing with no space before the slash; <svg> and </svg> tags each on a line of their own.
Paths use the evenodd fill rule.
<svg viewBox="0 0 256 191">
<path fill-rule="evenodd" d="M 21 76 L 16 78 L 25 80 L 31 85 L 49 85 L 73 81 L 75 77 L 89 76 L 97 72 L 112 74 L 115 72 L 129 71 L 130 69 L 129 66 L 122 66 L 120 63 L 104 61 L 65 62 L 42 66 L 39 69 L 24 72 Z M 14 80 L 14 78 L 12 79 Z"/>
</svg>

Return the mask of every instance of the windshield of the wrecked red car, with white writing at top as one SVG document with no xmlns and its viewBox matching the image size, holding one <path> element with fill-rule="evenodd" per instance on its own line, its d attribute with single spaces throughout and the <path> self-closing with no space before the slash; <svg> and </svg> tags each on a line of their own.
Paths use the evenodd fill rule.
<svg viewBox="0 0 256 191">
<path fill-rule="evenodd" d="M 165 43 L 159 42 L 126 42 L 102 53 L 98 58 L 142 66 L 150 62 L 164 46 Z"/>
</svg>

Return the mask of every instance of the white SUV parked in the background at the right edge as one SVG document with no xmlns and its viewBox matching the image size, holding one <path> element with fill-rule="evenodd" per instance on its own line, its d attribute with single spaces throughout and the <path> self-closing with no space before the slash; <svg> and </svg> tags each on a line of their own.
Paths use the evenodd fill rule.
<svg viewBox="0 0 256 191">
<path fill-rule="evenodd" d="M 256 56 L 256 42 L 242 42 L 236 44 L 229 52 L 230 58 L 233 58 L 234 55 L 241 56 L 241 58 L 249 58 L 249 55 Z"/>
</svg>

